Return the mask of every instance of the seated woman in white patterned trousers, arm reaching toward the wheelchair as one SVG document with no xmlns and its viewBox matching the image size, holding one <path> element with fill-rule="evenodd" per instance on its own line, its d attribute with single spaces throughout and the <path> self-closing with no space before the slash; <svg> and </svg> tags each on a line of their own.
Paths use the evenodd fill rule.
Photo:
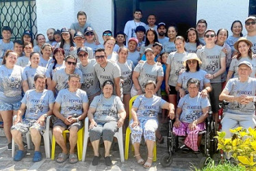
<svg viewBox="0 0 256 171">
<path fill-rule="evenodd" d="M 168 109 L 168 116 L 173 119 L 175 116 L 174 105 L 164 101 L 161 97 L 155 96 L 156 84 L 154 81 L 147 81 L 145 85 L 145 94 L 138 96 L 131 108 L 132 119 L 129 123 L 131 129 L 131 142 L 134 147 L 134 157 L 144 168 L 150 168 L 153 160 L 153 148 L 155 144 L 155 131 L 158 127 L 157 114 L 159 109 Z M 140 142 L 144 134 L 144 140 L 148 148 L 148 159 L 140 157 Z"/>
</svg>

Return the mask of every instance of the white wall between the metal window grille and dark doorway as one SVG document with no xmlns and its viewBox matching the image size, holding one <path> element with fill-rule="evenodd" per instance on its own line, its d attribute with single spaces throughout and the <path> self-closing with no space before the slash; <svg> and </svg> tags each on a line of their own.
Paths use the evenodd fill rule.
<svg viewBox="0 0 256 171">
<path fill-rule="evenodd" d="M 77 22 L 77 12 L 84 11 L 88 22 L 97 31 L 102 42 L 105 29 L 114 30 L 114 4 L 112 0 L 36 0 L 38 33 L 44 34 L 48 28 L 71 27 Z"/>
</svg>

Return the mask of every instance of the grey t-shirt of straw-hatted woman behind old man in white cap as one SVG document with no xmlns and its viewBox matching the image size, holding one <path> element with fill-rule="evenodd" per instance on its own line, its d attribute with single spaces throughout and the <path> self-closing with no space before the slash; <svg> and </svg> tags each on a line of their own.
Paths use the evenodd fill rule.
<svg viewBox="0 0 256 171">
<path fill-rule="evenodd" d="M 247 62 L 250 62 L 252 64 L 252 66 L 253 66 L 253 73 L 251 73 L 250 77 L 255 78 L 255 74 L 256 74 L 256 58 L 253 58 L 253 60 L 251 60 L 249 57 L 241 57 L 240 60 L 235 58 L 235 59 L 233 59 L 231 61 L 229 70 L 234 72 L 234 78 L 238 77 L 238 64 L 240 62 L 243 62 L 243 61 L 247 61 Z"/>
</svg>

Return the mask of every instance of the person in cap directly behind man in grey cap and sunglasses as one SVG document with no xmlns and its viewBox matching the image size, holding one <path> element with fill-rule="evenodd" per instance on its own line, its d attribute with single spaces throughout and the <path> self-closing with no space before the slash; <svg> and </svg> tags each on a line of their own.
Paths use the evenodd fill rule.
<svg viewBox="0 0 256 171">
<path fill-rule="evenodd" d="M 77 47 L 71 47 L 71 55 L 77 57 L 77 49 L 79 49 L 80 47 L 85 47 L 84 46 L 84 36 L 83 34 L 81 34 L 80 31 L 77 31 L 74 34 L 74 38 L 73 38 L 75 44 L 77 45 Z M 88 51 L 88 57 L 89 59 L 93 58 L 93 51 L 90 47 L 86 47 L 87 51 Z M 79 58 L 77 58 L 79 61 Z"/>
</svg>

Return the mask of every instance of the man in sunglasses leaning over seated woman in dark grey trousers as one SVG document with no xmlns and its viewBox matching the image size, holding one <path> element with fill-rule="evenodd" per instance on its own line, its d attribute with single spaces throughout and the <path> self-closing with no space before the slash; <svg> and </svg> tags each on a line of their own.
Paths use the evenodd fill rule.
<svg viewBox="0 0 256 171">
<path fill-rule="evenodd" d="M 101 88 L 103 83 L 106 80 L 111 80 L 114 83 L 114 95 L 121 97 L 122 96 L 122 87 L 121 87 L 121 71 L 118 65 L 113 64 L 112 62 L 107 61 L 107 55 L 105 49 L 97 49 L 95 51 L 95 60 L 97 64 L 94 65 L 94 69 L 99 79 Z"/>
</svg>

